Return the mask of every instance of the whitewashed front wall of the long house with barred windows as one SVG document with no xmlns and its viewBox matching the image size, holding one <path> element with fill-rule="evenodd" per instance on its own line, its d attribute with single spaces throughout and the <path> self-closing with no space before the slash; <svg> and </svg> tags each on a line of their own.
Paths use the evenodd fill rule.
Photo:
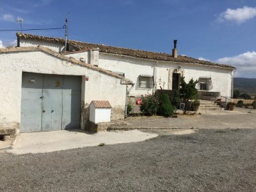
<svg viewBox="0 0 256 192">
<path fill-rule="evenodd" d="M 156 60 L 146 60 L 121 55 L 112 55 L 100 53 L 100 68 L 107 70 L 119 71 L 125 73 L 125 78 L 137 83 L 139 75 L 154 75 L 154 65 L 156 65 L 156 89 L 160 86 L 164 90 L 168 90 L 169 69 L 177 69 L 181 67 L 186 82 L 198 80 L 200 77 L 209 77 L 213 82 L 213 89 L 210 91 L 220 92 L 224 97 L 231 97 L 232 90 L 232 70 L 226 68 L 216 68 L 208 65 L 196 65 L 186 63 L 173 63 Z M 142 90 L 134 86 L 130 95 L 138 96 L 152 93 L 152 89 Z"/>
</svg>

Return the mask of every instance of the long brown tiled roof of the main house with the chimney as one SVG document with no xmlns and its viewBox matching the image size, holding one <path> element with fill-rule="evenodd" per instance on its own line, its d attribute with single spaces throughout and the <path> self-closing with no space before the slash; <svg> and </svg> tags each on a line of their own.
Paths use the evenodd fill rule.
<svg viewBox="0 0 256 192">
<path fill-rule="evenodd" d="M 34 36 L 31 34 L 23 34 L 23 33 L 17 33 L 18 38 L 23 39 L 31 39 L 36 41 L 46 41 L 49 43 L 61 43 L 65 44 L 65 41 L 63 38 L 49 38 L 45 36 Z M 136 58 L 145 58 L 145 59 L 151 59 L 151 60 L 164 60 L 164 61 L 171 61 L 171 62 L 178 62 L 178 63 L 188 63 L 188 64 L 199 64 L 199 65 L 210 65 L 220 68 L 230 68 L 235 69 L 231 65 L 224 65 L 219 63 L 213 63 L 206 60 L 198 60 L 196 58 L 189 58 L 187 56 L 178 55 L 177 58 L 174 58 L 171 54 L 167 53 L 156 53 L 156 52 L 150 52 L 146 50 L 135 50 L 130 48 L 119 48 L 114 46 L 105 46 L 100 44 L 92 44 L 92 43 L 85 43 L 81 41 L 72 41 L 69 40 L 68 44 L 75 48 L 75 51 L 78 50 L 88 50 L 92 48 L 100 48 L 101 53 L 111 53 L 111 54 L 117 54 L 117 55 L 127 55 L 132 56 Z"/>
</svg>

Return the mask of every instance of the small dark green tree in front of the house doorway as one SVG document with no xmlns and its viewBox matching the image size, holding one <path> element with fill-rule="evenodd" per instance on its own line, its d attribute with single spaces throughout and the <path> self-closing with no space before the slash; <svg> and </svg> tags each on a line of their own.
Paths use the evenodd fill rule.
<svg viewBox="0 0 256 192">
<path fill-rule="evenodd" d="M 193 78 L 189 80 L 188 83 L 186 83 L 185 78 L 181 78 L 181 88 L 179 90 L 181 94 L 181 98 L 185 102 L 185 107 L 183 110 L 183 113 L 185 114 L 188 112 L 188 102 L 189 100 L 195 100 L 197 99 L 197 89 L 196 89 L 196 84 L 198 83 L 198 80 L 194 81 Z"/>
</svg>

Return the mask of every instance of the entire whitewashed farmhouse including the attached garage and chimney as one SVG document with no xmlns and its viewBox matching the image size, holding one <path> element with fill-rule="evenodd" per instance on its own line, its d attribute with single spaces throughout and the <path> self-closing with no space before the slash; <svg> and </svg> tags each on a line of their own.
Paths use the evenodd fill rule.
<svg viewBox="0 0 256 192">
<path fill-rule="evenodd" d="M 123 119 L 127 95 L 178 90 L 181 76 L 198 80 L 201 99 L 233 96 L 230 65 L 172 54 L 17 33 L 0 49 L 0 135 L 87 129 L 92 100 L 110 102 Z M 66 51 L 64 51 L 66 50 Z M 90 128 L 88 128 L 90 129 Z"/>
</svg>

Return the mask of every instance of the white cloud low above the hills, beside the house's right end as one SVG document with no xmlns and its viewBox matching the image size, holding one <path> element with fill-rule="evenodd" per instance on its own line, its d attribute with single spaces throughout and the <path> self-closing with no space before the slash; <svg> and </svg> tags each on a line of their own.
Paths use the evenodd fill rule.
<svg viewBox="0 0 256 192">
<path fill-rule="evenodd" d="M 256 78 L 256 52 L 248 51 L 233 57 L 220 58 L 217 63 L 233 65 L 237 68 L 236 77 L 241 78 Z"/>
</svg>

